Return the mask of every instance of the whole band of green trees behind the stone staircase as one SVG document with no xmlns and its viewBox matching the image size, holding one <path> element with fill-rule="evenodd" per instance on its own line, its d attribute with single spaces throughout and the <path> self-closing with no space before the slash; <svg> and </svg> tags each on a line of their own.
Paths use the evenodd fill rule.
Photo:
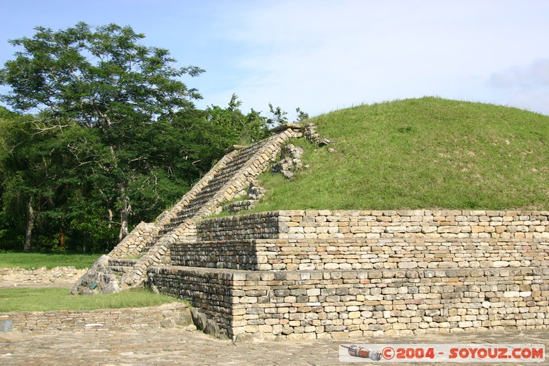
<svg viewBox="0 0 549 366">
<path fill-rule="evenodd" d="M 204 70 L 177 67 L 129 26 L 35 30 L 10 41 L 18 51 L 0 69 L 11 108 L 0 107 L 0 250 L 109 251 L 227 147 L 285 122 L 270 104 L 271 117 L 243 113 L 236 95 L 196 108 L 181 80 Z"/>
</svg>

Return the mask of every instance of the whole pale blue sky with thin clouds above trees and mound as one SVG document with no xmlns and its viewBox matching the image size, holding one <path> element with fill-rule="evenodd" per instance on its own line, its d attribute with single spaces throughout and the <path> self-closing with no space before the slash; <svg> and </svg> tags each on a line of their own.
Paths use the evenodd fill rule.
<svg viewBox="0 0 549 366">
<path fill-rule="evenodd" d="M 206 69 L 184 80 L 200 107 L 237 93 L 245 111 L 294 117 L 437 95 L 549 115 L 546 0 L 0 0 L 0 12 L 1 65 L 8 39 L 38 25 L 130 25 Z"/>
</svg>

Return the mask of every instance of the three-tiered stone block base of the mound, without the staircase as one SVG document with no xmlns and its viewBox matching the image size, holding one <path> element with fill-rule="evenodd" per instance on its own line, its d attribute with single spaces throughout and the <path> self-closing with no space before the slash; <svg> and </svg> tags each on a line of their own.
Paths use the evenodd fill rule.
<svg viewBox="0 0 549 366">
<path fill-rule="evenodd" d="M 234 339 L 547 328 L 548 217 L 310 210 L 202 220 L 198 239 L 174 244 L 174 266 L 151 268 L 149 280 L 200 297 Z M 200 282 L 209 285 L 198 295 Z"/>
</svg>

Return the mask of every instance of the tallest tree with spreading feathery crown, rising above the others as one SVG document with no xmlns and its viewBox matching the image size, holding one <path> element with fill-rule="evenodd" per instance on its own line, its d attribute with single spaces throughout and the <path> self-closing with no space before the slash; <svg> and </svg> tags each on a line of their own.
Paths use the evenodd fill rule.
<svg viewBox="0 0 549 366">
<path fill-rule="evenodd" d="M 80 174 L 80 185 L 93 187 L 108 211 L 118 212 L 119 240 L 128 233 L 131 197 L 147 196 L 159 179 L 169 179 L 174 151 L 185 152 L 154 154 L 148 147 L 158 146 L 155 139 L 169 140 L 169 133 L 177 138 L 181 130 L 173 117 L 192 111 L 192 100 L 200 98 L 180 77 L 203 70 L 176 67 L 167 50 L 142 45 L 143 37 L 115 24 L 78 23 L 56 32 L 36 27 L 32 38 L 10 41 L 22 49 L 0 69 L 1 84 L 11 87 L 2 100 L 16 111 L 37 113 L 34 134 L 53 131 L 68 139 L 64 149 L 49 151 L 59 148 L 56 153 L 71 157 L 62 179 L 73 182 Z M 69 183 L 54 188 L 59 193 L 62 187 Z M 26 197 L 31 220 L 40 207 L 32 194 Z"/>
</svg>

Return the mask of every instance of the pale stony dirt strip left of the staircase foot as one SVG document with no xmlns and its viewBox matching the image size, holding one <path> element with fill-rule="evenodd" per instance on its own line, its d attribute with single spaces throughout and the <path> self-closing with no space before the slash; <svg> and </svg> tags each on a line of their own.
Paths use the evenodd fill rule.
<svg viewBox="0 0 549 366">
<path fill-rule="evenodd" d="M 38 269 L 0 268 L 0 288 L 72 287 L 87 269 L 72 266 Z"/>
</svg>

